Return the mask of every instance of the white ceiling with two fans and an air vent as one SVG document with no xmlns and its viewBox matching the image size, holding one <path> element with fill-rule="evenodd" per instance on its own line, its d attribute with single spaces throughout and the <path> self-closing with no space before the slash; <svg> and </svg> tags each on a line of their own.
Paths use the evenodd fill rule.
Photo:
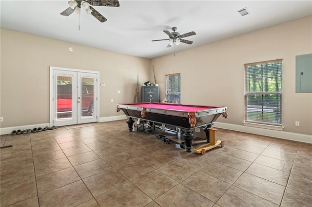
<svg viewBox="0 0 312 207">
<path fill-rule="evenodd" d="M 99 22 L 81 11 L 59 13 L 67 0 L 0 0 L 1 27 L 144 58 L 155 58 L 217 40 L 312 15 L 311 0 L 119 0 L 120 7 L 93 6 L 106 17 Z M 236 11 L 247 7 L 244 17 Z M 79 22 L 80 21 L 80 22 Z M 80 30 L 78 30 L 80 25 Z M 167 48 L 163 30 L 177 27 L 196 35 Z M 73 48 L 75 50 L 75 48 Z"/>
</svg>

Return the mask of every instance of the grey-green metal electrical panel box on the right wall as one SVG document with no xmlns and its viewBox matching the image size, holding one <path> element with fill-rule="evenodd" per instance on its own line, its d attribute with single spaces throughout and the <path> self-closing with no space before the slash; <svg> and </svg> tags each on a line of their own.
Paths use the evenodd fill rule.
<svg viewBox="0 0 312 207">
<path fill-rule="evenodd" d="M 312 93 L 312 54 L 296 56 L 296 93 Z"/>
</svg>

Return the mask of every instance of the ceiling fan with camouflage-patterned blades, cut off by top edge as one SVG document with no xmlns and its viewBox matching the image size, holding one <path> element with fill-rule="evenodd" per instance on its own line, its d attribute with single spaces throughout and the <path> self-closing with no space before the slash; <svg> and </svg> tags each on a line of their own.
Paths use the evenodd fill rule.
<svg viewBox="0 0 312 207">
<path fill-rule="evenodd" d="M 87 14 L 91 14 L 96 17 L 100 22 L 104 22 L 107 19 L 103 17 L 97 10 L 92 6 L 119 6 L 118 0 L 70 0 L 68 1 L 69 7 L 65 9 L 60 15 L 69 16 L 73 12 L 79 14 L 80 8 L 83 8 Z M 90 6 L 92 5 L 92 6 Z"/>
</svg>

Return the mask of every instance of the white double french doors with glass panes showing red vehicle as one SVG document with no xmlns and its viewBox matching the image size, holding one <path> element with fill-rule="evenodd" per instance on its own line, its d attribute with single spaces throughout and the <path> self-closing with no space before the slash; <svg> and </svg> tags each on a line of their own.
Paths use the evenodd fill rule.
<svg viewBox="0 0 312 207">
<path fill-rule="evenodd" d="M 51 67 L 51 125 L 98 121 L 98 72 Z"/>
</svg>

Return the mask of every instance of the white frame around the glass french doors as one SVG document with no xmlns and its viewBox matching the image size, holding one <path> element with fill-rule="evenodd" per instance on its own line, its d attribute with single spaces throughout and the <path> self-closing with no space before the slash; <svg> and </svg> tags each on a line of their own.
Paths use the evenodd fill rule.
<svg viewBox="0 0 312 207">
<path fill-rule="evenodd" d="M 94 87 L 97 88 L 97 92 L 96 94 L 96 99 L 95 102 L 96 104 L 94 104 L 97 107 L 96 114 L 96 120 L 97 122 L 99 121 L 99 85 L 98 85 L 98 78 L 99 78 L 99 71 L 93 71 L 93 70 L 82 70 L 82 69 L 69 69 L 69 68 L 60 68 L 60 67 L 54 67 L 54 66 L 50 66 L 50 126 L 54 125 L 54 120 L 53 120 L 53 93 L 54 93 L 54 88 L 53 88 L 53 73 L 54 70 L 64 70 L 64 71 L 72 71 L 72 72 L 85 72 L 85 73 L 94 73 L 97 75 L 97 80 L 96 80 L 96 85 L 94 85 Z"/>
</svg>

